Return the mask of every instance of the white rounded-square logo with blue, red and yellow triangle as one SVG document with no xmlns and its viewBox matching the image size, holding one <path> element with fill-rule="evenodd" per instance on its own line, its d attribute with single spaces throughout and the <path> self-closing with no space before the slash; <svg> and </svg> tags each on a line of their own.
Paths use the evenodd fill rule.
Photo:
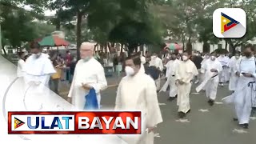
<svg viewBox="0 0 256 144">
<path fill-rule="evenodd" d="M 246 13 L 239 8 L 219 8 L 213 14 L 213 31 L 218 38 L 242 38 L 246 34 Z"/>
</svg>

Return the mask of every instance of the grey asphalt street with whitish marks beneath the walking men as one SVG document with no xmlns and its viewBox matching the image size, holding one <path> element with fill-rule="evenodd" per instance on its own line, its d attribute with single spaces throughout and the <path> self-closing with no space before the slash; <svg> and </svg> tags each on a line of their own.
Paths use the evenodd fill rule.
<svg viewBox="0 0 256 144">
<path fill-rule="evenodd" d="M 114 108 L 116 90 L 120 78 L 107 78 L 112 85 L 102 91 L 102 108 Z M 162 80 L 162 84 L 164 80 Z M 191 112 L 186 118 L 178 118 L 176 100 L 167 101 L 168 92 L 158 94 L 163 122 L 155 131 L 155 144 L 242 144 L 256 142 L 256 118 L 251 118 L 249 129 L 244 130 L 234 122 L 234 107 L 222 103 L 222 98 L 230 95 L 228 86 L 218 87 L 217 100 L 209 106 L 204 92 L 197 94 L 196 85 L 190 94 Z"/>
</svg>

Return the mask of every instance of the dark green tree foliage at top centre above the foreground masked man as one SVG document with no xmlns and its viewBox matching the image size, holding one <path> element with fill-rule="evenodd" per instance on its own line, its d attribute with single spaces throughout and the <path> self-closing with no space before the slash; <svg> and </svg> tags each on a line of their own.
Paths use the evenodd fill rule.
<svg viewBox="0 0 256 144">
<path fill-rule="evenodd" d="M 105 41 L 128 46 L 129 53 L 142 44 L 160 43 L 162 30 L 149 10 L 152 2 L 155 1 L 94 0 L 88 14 L 90 30 L 98 31 L 98 38 Z"/>
</svg>

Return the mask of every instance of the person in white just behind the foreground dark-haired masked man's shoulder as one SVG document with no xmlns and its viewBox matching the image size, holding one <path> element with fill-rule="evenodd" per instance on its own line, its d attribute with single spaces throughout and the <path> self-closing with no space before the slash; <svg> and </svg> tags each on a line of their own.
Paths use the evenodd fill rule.
<svg viewBox="0 0 256 144">
<path fill-rule="evenodd" d="M 150 60 L 150 66 L 155 66 L 158 70 L 162 71 L 163 70 L 163 65 L 162 65 L 162 59 L 158 58 L 157 54 L 153 54 Z M 160 90 L 161 86 L 161 74 L 159 75 L 159 78 L 155 80 L 157 90 Z"/>
</svg>

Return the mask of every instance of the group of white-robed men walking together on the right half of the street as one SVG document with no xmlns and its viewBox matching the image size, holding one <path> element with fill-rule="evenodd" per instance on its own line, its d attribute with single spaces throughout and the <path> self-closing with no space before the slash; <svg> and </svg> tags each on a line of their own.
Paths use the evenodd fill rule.
<svg viewBox="0 0 256 144">
<path fill-rule="evenodd" d="M 166 83 L 160 91 L 170 87 L 170 101 L 178 96 L 178 116 L 184 118 L 190 112 L 190 90 L 193 78 L 201 78 L 201 83 L 196 91 L 204 90 L 209 98 L 210 106 L 214 105 L 217 97 L 218 86 L 229 82 L 230 96 L 222 98 L 224 102 L 234 103 L 234 108 L 239 126 L 248 128 L 250 116 L 256 110 L 256 59 L 252 45 L 245 47 L 242 54 L 236 53 L 232 58 L 216 52 L 205 54 L 199 70 L 196 68 L 190 55 L 182 54 L 182 59 L 177 59 L 175 54 L 170 54 L 170 61 L 166 63 Z M 157 82 L 156 82 L 157 83 Z"/>
</svg>

